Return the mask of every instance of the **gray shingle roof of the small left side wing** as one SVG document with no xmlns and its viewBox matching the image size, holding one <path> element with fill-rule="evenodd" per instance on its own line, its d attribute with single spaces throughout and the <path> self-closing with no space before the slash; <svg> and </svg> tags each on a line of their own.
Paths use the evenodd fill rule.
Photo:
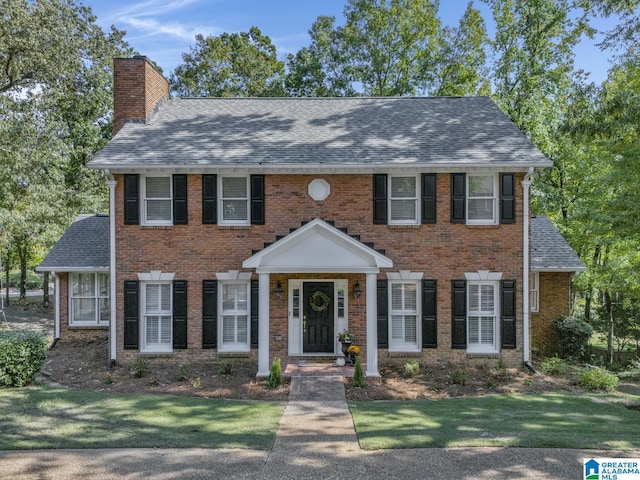
<svg viewBox="0 0 640 480">
<path fill-rule="evenodd" d="M 79 215 L 36 270 L 72 272 L 109 268 L 109 217 Z"/>
</svg>

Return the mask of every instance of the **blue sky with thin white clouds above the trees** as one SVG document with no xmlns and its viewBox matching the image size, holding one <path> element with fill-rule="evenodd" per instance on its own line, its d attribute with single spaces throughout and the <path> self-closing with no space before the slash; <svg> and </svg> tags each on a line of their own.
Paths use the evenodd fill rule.
<svg viewBox="0 0 640 480">
<path fill-rule="evenodd" d="M 84 0 L 97 16 L 97 23 L 108 31 L 111 25 L 125 30 L 125 40 L 141 55 L 149 57 L 164 71 L 165 77 L 182 63 L 182 54 L 195 45 L 195 36 L 246 32 L 252 26 L 268 35 L 284 59 L 289 53 L 309 45 L 308 31 L 320 15 L 332 15 L 342 23 L 346 0 Z M 440 18 L 445 25 L 457 25 L 468 0 L 442 0 Z M 474 2 L 485 19 L 487 6 Z M 598 27 L 608 29 L 615 20 L 602 20 Z M 601 37 L 600 37 L 601 38 Z M 601 52 L 597 39 L 576 47 L 576 66 L 590 72 L 590 79 L 601 83 L 610 67 L 609 53 Z"/>
</svg>

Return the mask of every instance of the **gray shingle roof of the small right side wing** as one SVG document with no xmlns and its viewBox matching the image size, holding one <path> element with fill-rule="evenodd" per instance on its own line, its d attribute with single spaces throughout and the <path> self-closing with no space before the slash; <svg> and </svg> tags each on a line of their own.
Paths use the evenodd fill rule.
<svg viewBox="0 0 640 480">
<path fill-rule="evenodd" d="M 584 272 L 587 267 L 551 220 L 531 217 L 531 270 L 539 272 Z"/>
</svg>

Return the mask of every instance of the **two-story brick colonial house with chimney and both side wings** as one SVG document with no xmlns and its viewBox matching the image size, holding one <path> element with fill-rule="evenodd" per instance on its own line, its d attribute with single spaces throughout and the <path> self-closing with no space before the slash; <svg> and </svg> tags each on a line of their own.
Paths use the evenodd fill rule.
<svg viewBox="0 0 640 480">
<path fill-rule="evenodd" d="M 110 214 L 39 267 L 57 337 L 108 328 L 112 362 L 250 356 L 263 376 L 341 355 L 348 330 L 377 376 L 389 357 L 528 362 L 568 312 L 584 265 L 529 218 L 551 162 L 490 99 L 169 98 L 145 57 L 114 80 L 89 163 Z"/>
</svg>

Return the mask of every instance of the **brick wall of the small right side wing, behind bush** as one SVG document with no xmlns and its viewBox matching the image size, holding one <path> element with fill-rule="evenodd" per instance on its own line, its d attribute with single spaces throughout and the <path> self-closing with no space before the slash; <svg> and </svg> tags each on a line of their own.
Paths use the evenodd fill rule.
<svg viewBox="0 0 640 480">
<path fill-rule="evenodd" d="M 559 353 L 553 320 L 569 314 L 571 274 L 540 273 L 540 311 L 531 314 L 531 350 L 537 355 Z"/>
</svg>

